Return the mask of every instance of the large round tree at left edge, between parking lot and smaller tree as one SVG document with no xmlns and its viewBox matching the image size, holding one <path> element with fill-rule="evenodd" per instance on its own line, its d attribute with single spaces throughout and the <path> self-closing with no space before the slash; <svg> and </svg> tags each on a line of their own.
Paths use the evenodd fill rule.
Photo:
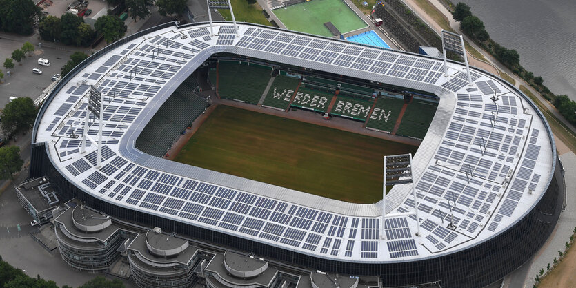
<svg viewBox="0 0 576 288">
<path fill-rule="evenodd" d="M 11 138 L 16 133 L 26 132 L 34 124 L 37 110 L 34 102 L 28 97 L 19 97 L 8 102 L 2 111 L 2 130 Z"/>
</svg>

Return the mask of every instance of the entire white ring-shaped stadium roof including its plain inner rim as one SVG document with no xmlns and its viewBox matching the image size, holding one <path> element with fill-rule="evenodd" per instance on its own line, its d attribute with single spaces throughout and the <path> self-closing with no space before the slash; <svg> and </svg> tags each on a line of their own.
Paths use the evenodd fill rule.
<svg viewBox="0 0 576 288">
<path fill-rule="evenodd" d="M 521 219 L 550 183 L 555 148 L 546 120 L 526 96 L 482 70 L 473 70 L 468 86 L 457 63 L 448 63 L 444 77 L 439 59 L 421 55 L 250 24 L 239 25 L 239 37 L 228 23 L 218 24 L 215 36 L 206 27 L 166 26 L 101 52 L 50 95 L 33 141 L 48 143 L 52 163 L 70 182 L 119 207 L 350 262 L 416 260 L 466 249 Z M 161 104 L 217 52 L 438 95 L 437 113 L 413 160 L 421 236 L 415 236 L 415 216 L 404 215 L 388 218 L 387 240 L 379 240 L 379 204 L 322 198 L 137 150 L 136 138 Z M 90 141 L 79 153 L 77 137 L 90 85 L 117 95 L 105 101 L 99 168 L 97 145 Z M 95 121 L 88 134 L 94 139 L 97 131 Z M 413 210 L 408 192 L 409 185 L 395 186 L 386 211 Z M 456 229 L 448 229 L 449 222 Z"/>
</svg>

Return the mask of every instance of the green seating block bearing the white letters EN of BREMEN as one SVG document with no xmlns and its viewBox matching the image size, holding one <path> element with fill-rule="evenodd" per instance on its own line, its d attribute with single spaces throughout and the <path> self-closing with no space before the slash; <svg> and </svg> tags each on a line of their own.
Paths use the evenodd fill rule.
<svg viewBox="0 0 576 288">
<path fill-rule="evenodd" d="M 404 99 L 379 97 L 366 122 L 366 128 L 392 133 L 402 106 L 404 106 Z"/>
</svg>

